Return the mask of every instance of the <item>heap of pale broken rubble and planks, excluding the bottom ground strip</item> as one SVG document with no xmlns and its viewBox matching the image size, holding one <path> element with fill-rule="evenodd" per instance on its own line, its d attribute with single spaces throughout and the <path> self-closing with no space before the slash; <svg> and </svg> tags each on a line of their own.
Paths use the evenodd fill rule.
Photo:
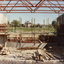
<svg viewBox="0 0 64 64">
<path fill-rule="evenodd" d="M 18 50 L 12 47 L 3 47 L 0 51 L 0 58 L 5 60 L 36 60 L 43 62 L 48 60 L 57 60 L 51 53 L 48 53 L 45 49 Z"/>
</svg>

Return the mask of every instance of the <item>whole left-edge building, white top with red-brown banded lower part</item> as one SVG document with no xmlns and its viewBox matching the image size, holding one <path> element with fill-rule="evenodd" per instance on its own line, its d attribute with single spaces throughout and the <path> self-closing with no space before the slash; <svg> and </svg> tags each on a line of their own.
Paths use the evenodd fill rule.
<svg viewBox="0 0 64 64">
<path fill-rule="evenodd" d="M 0 14 L 0 44 L 7 40 L 7 18 Z"/>
</svg>

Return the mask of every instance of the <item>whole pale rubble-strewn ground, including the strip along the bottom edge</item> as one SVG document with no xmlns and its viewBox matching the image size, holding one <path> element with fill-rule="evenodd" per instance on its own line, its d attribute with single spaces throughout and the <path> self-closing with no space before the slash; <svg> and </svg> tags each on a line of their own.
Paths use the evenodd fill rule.
<svg viewBox="0 0 64 64">
<path fill-rule="evenodd" d="M 0 51 L 0 64 L 61 64 L 60 59 L 39 48 L 3 47 Z"/>
</svg>

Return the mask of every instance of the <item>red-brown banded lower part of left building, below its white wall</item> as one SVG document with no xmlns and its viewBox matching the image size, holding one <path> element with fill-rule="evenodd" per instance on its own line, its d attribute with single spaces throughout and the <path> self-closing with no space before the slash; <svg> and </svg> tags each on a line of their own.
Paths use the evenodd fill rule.
<svg viewBox="0 0 64 64">
<path fill-rule="evenodd" d="M 0 44 L 4 44 L 7 41 L 7 25 L 0 24 Z"/>
</svg>

